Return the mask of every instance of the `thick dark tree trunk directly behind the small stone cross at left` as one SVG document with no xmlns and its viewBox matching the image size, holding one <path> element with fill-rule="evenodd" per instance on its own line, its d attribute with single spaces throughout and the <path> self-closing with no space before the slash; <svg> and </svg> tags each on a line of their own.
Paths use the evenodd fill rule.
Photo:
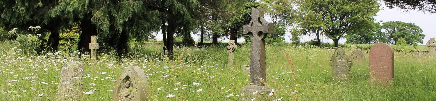
<svg viewBox="0 0 436 101">
<path fill-rule="evenodd" d="M 82 20 L 80 21 L 80 29 L 82 30 L 82 34 L 80 34 L 78 49 L 83 49 L 84 52 L 89 52 L 91 36 L 97 35 L 97 27 L 92 24 L 91 20 Z"/>
</svg>

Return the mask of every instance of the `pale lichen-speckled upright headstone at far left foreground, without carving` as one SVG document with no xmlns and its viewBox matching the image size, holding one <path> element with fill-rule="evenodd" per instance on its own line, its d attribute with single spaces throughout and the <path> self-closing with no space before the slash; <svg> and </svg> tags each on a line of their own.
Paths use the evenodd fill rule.
<svg viewBox="0 0 436 101">
<path fill-rule="evenodd" d="M 67 62 L 62 65 L 56 101 L 80 100 L 83 96 L 82 70 L 82 62 Z"/>
</svg>

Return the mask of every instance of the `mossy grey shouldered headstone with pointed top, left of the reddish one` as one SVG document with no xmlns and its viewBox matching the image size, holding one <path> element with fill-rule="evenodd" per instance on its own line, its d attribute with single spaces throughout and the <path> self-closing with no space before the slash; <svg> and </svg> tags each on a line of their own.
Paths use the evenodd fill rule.
<svg viewBox="0 0 436 101">
<path fill-rule="evenodd" d="M 331 66 L 331 70 L 333 70 L 332 74 L 334 80 L 347 80 L 353 63 L 351 62 L 350 58 L 348 58 L 344 48 L 339 46 L 334 49 L 334 54 L 331 55 L 329 64 Z"/>
</svg>

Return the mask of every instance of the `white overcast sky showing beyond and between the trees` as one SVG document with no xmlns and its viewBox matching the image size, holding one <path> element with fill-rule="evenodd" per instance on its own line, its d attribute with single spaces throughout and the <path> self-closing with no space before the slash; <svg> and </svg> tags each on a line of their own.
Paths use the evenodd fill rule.
<svg viewBox="0 0 436 101">
<path fill-rule="evenodd" d="M 426 37 L 423 40 L 423 44 L 429 40 L 429 38 L 436 37 L 436 14 L 432 13 L 423 13 L 422 11 L 414 11 L 409 10 L 408 12 L 404 12 L 399 9 L 389 9 L 385 6 L 385 3 L 381 3 L 380 11 L 377 13 L 377 16 L 375 16 L 375 19 L 377 21 L 402 21 L 406 23 L 415 23 L 417 26 L 421 27 L 422 33 L 426 35 Z M 266 20 L 269 20 L 268 17 Z M 194 35 L 194 40 L 199 40 L 200 36 Z M 286 33 L 285 39 L 286 42 L 290 42 L 290 33 Z M 311 39 L 315 39 L 316 36 L 303 36 L 300 41 L 306 42 Z M 157 39 L 162 40 L 162 34 L 159 32 L 157 33 Z M 223 42 L 228 42 L 228 37 L 224 38 L 224 40 L 218 39 Z M 238 42 L 243 42 L 244 39 L 238 39 Z M 331 39 L 328 39 L 326 37 L 321 39 L 322 42 L 333 42 Z M 343 38 L 339 42 L 345 43 L 346 39 Z M 421 44 L 421 43 L 419 43 Z"/>
</svg>

